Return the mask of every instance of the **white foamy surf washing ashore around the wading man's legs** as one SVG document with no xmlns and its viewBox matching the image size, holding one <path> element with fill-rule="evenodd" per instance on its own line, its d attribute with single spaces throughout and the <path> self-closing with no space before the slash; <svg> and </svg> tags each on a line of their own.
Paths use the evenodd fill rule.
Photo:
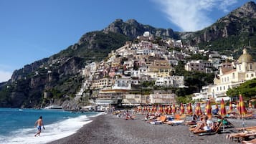
<svg viewBox="0 0 256 144">
<path fill-rule="evenodd" d="M 101 114 L 98 114 L 101 115 Z M 97 115 L 97 116 L 98 116 Z M 96 115 L 95 115 L 96 116 Z M 1 137 L 0 143 L 6 144 L 41 144 L 49 143 L 60 138 L 65 138 L 69 135 L 76 133 L 77 130 L 82 128 L 82 125 L 92 122 L 86 115 L 79 117 L 72 117 L 67 120 L 44 125 L 45 130 L 42 129 L 40 136 L 34 137 L 37 133 L 36 128 L 24 128 L 15 130 L 8 138 Z"/>
</svg>

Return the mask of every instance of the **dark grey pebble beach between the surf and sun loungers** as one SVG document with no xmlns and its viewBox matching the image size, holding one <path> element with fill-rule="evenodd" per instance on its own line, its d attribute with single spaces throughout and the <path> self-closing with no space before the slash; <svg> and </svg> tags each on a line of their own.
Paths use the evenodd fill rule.
<svg viewBox="0 0 256 144">
<path fill-rule="evenodd" d="M 229 144 L 237 143 L 226 139 L 227 133 L 197 136 L 189 131 L 186 125 L 151 125 L 142 120 L 143 115 L 136 115 L 135 120 L 124 120 L 116 115 L 100 115 L 93 122 L 84 125 L 74 135 L 53 141 L 49 144 Z M 242 128 L 242 120 L 228 119 L 234 128 Z M 256 126 L 256 120 L 245 120 L 245 126 Z M 227 129 L 231 133 L 234 128 Z"/>
</svg>

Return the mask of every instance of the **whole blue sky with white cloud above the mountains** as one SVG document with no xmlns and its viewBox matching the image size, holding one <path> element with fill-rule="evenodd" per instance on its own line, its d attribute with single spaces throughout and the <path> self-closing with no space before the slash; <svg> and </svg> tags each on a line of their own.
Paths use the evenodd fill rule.
<svg viewBox="0 0 256 144">
<path fill-rule="evenodd" d="M 256 0 L 255 0 L 256 1 Z M 0 0 L 0 82 L 115 19 L 176 32 L 213 24 L 247 0 Z"/>
</svg>

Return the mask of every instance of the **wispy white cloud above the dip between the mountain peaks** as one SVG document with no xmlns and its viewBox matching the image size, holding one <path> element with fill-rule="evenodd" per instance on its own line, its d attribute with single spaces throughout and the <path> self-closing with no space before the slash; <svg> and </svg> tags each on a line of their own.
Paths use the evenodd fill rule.
<svg viewBox="0 0 256 144">
<path fill-rule="evenodd" d="M 213 9 L 227 12 L 237 0 L 153 0 L 161 6 L 167 19 L 182 31 L 191 32 L 212 24 L 209 13 Z"/>
</svg>

